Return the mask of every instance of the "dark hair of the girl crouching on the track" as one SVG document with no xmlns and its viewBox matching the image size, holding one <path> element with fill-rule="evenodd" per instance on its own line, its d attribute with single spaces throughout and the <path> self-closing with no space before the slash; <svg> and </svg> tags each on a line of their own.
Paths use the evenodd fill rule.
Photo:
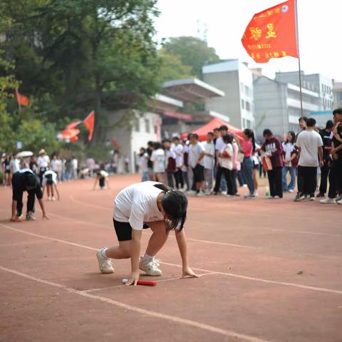
<svg viewBox="0 0 342 342">
<path fill-rule="evenodd" d="M 180 232 L 187 219 L 187 197 L 162 183 L 153 186 L 166 192 L 162 197 L 162 208 L 169 215 L 170 224 L 167 224 L 167 230 L 178 229 Z"/>
</svg>

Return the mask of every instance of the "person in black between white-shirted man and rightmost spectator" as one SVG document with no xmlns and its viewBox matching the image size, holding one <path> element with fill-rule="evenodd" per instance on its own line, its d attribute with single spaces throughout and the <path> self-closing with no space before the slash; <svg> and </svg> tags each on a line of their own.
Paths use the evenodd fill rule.
<svg viewBox="0 0 342 342">
<path fill-rule="evenodd" d="M 333 121 L 326 122 L 326 128 L 321 130 L 319 134 L 323 140 L 323 167 L 321 167 L 321 185 L 319 193 L 316 197 L 325 197 L 328 185 L 328 175 L 330 170 L 330 151 L 331 151 L 331 130 L 333 130 Z"/>
</svg>

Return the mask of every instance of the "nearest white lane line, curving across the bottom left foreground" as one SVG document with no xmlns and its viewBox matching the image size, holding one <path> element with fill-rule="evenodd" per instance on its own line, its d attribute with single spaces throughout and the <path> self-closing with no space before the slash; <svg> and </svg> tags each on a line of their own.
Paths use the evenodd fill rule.
<svg viewBox="0 0 342 342">
<path fill-rule="evenodd" d="M 211 333 L 219 333 L 220 335 L 223 335 L 223 336 L 228 336 L 228 337 L 232 337 L 232 338 L 239 338 L 239 339 L 244 340 L 244 341 L 269 342 L 269 341 L 266 341 L 262 338 L 257 338 L 254 336 L 245 335 L 243 333 L 237 333 L 236 331 L 216 328 L 215 326 L 210 326 L 209 324 L 200 323 L 197 321 L 190 321 L 189 319 L 185 319 L 185 318 L 170 316 L 170 315 L 166 315 L 166 314 L 160 314 L 159 312 L 155 312 L 155 311 L 151 311 L 151 310 L 147 310 L 147 309 L 142 309 L 142 308 L 139 308 L 138 306 L 132 306 L 129 304 L 122 303 L 120 301 L 114 301 L 113 299 L 105 298 L 103 296 L 95 296 L 94 294 L 89 294 L 88 292 L 78 291 L 76 289 L 71 289 L 70 287 L 63 286 L 62 284 L 57 284 L 57 283 L 53 283 L 51 281 L 46 281 L 46 280 L 37 278 L 36 276 L 30 276 L 28 274 L 21 273 L 19 271 L 15 271 L 14 269 L 8 269 L 4 266 L 0 266 L 0 269 L 2 271 L 6 271 L 6 272 L 11 273 L 11 274 L 16 274 L 17 276 L 21 276 L 21 277 L 24 277 L 26 279 L 30 279 L 32 281 L 36 281 L 36 282 L 41 283 L 41 284 L 55 286 L 55 287 L 58 287 L 59 289 L 65 289 L 66 291 L 70 292 L 71 294 L 78 294 L 79 296 L 83 296 L 86 298 L 95 299 L 98 301 L 103 301 L 107 304 L 118 306 L 121 309 L 138 312 L 139 314 L 164 319 L 165 321 L 172 321 L 172 322 L 179 323 L 179 324 L 182 324 L 185 326 L 192 326 L 194 328 L 199 328 L 199 329 L 202 329 L 205 331 L 209 331 Z"/>
</svg>

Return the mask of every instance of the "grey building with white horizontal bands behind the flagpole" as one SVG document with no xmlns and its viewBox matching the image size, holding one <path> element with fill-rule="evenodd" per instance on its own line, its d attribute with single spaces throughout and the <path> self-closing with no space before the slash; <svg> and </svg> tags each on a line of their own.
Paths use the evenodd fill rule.
<svg viewBox="0 0 342 342">
<path fill-rule="evenodd" d="M 264 128 L 283 137 L 289 130 L 299 130 L 301 98 L 299 86 L 265 76 L 254 78 L 254 117 L 257 137 L 262 137 Z M 310 116 L 319 109 L 319 94 L 302 88 L 303 115 Z"/>
</svg>

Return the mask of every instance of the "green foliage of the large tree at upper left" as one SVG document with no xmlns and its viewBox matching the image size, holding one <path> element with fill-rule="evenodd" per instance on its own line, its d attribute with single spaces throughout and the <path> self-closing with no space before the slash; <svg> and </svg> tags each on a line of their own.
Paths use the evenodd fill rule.
<svg viewBox="0 0 342 342">
<path fill-rule="evenodd" d="M 0 1 L 0 22 L 10 23 L 0 48 L 6 61 L 15 61 L 21 93 L 32 99 L 43 128 L 95 110 L 93 140 L 102 142 L 109 110 L 147 107 L 160 87 L 160 57 L 153 41 L 156 3 L 22 0 L 18 6 L 17 0 Z M 15 105 L 10 109 L 17 110 Z M 41 130 L 38 125 L 26 128 L 35 135 Z"/>
</svg>

